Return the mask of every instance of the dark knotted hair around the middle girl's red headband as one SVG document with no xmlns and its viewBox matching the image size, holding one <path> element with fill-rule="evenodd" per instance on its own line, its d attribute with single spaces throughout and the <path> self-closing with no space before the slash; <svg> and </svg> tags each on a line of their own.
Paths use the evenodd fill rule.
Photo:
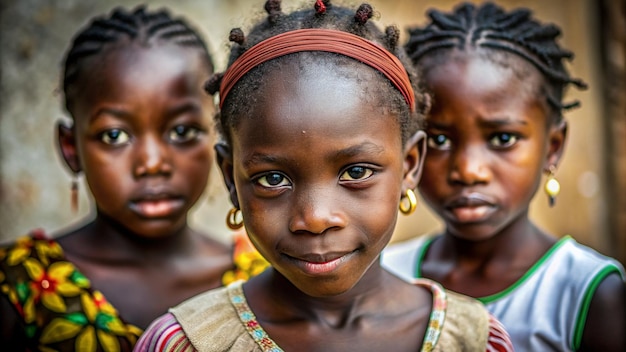
<svg viewBox="0 0 626 352">
<path fill-rule="evenodd" d="M 429 108 L 429 100 L 417 86 L 419 80 L 416 70 L 406 57 L 404 49 L 398 45 L 400 32 L 395 26 L 389 26 L 385 31 L 381 31 L 370 22 L 369 20 L 374 16 L 374 10 L 369 4 L 362 4 L 354 11 L 345 7 L 334 6 L 330 0 L 317 0 L 314 6 L 309 9 L 284 14 L 281 10 L 280 0 L 267 0 L 265 10 L 268 14 L 266 20 L 262 20 L 254 26 L 247 36 L 240 28 L 231 30 L 229 40 L 234 44 L 231 48 L 228 66 L 232 65 L 237 58 L 255 44 L 288 31 L 325 28 L 358 35 L 380 44 L 400 59 L 409 73 L 415 91 L 417 111 L 410 112 L 400 92 L 388 80 L 379 91 L 369 94 L 368 97 L 381 99 L 381 102 L 384 100 L 384 105 L 389 106 L 390 111 L 398 116 L 403 141 L 422 127 L 424 115 Z M 246 115 L 246 112 L 250 110 L 250 103 L 254 100 L 255 94 L 260 94 L 263 89 L 265 74 L 270 70 L 280 69 L 280 65 L 291 60 L 297 60 L 301 68 L 307 64 L 320 62 L 328 63 L 329 66 L 333 67 L 347 67 L 345 70 L 338 69 L 338 74 L 356 79 L 357 73 L 350 69 L 354 67 L 356 61 L 334 53 L 298 52 L 264 62 L 246 73 L 235 84 L 226 97 L 222 110 L 216 116 L 217 125 L 227 142 L 230 142 L 227 132 L 237 124 L 240 117 Z M 219 91 L 222 76 L 221 73 L 218 73 L 207 81 L 205 90 L 209 94 L 215 94 Z M 380 77 L 382 81 L 384 76 L 380 74 Z M 384 79 L 386 80 L 386 78 Z M 363 89 L 368 89 L 368 85 L 363 86 Z M 370 87 L 370 89 L 372 88 Z M 388 103 L 390 101 L 391 104 Z"/>
</svg>

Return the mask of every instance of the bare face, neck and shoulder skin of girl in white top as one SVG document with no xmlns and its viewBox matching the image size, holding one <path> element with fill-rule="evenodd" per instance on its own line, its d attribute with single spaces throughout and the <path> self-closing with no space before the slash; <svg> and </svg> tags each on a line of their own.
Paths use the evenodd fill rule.
<svg viewBox="0 0 626 352">
<path fill-rule="evenodd" d="M 420 191 L 446 229 L 420 269 L 473 297 L 508 288 L 556 243 L 532 223 L 528 207 L 542 173 L 561 158 L 567 125 L 534 93 L 538 71 L 517 57 L 511 62 L 524 74 L 476 52 L 426 72 L 435 104 Z M 625 292 L 616 273 L 601 282 L 581 351 L 624 350 Z"/>
</svg>

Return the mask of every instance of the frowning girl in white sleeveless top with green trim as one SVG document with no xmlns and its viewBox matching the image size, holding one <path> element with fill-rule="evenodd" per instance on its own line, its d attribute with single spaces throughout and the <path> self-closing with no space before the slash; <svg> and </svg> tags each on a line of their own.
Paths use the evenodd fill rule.
<svg viewBox="0 0 626 352">
<path fill-rule="evenodd" d="M 518 351 L 624 351 L 624 271 L 528 218 L 542 173 L 550 202 L 567 123 L 571 53 L 528 10 L 462 4 L 410 32 L 433 94 L 419 189 L 445 230 L 388 248 L 383 265 L 478 297 Z"/>
</svg>

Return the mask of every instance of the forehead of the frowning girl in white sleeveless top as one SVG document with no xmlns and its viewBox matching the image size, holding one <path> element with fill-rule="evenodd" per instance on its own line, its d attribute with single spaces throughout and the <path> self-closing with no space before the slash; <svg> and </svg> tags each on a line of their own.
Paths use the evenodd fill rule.
<svg viewBox="0 0 626 352">
<path fill-rule="evenodd" d="M 549 107 L 540 94 L 539 72 L 514 55 L 487 54 L 457 53 L 424 71 L 434 96 L 429 119 L 497 117 L 548 121 Z"/>
</svg>

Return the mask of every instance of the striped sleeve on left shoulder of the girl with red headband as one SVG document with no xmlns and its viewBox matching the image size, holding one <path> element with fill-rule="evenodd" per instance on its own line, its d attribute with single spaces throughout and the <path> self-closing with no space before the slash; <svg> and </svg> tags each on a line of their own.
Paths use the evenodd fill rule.
<svg viewBox="0 0 626 352">
<path fill-rule="evenodd" d="M 192 352 L 191 345 L 182 327 L 172 313 L 162 315 L 152 322 L 146 333 L 141 336 L 134 351 L 141 352 Z"/>
</svg>

